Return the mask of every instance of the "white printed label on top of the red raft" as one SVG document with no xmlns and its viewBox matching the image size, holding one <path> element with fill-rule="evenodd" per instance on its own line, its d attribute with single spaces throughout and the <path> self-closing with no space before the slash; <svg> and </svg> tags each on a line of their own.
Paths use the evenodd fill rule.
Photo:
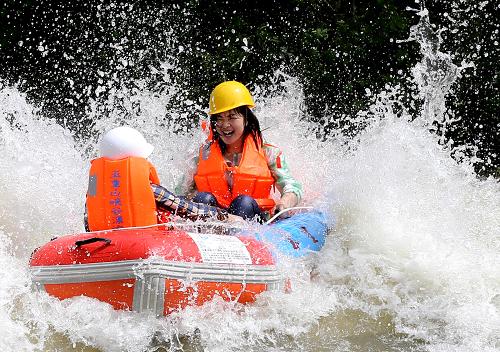
<svg viewBox="0 0 500 352">
<path fill-rule="evenodd" d="M 188 233 L 198 246 L 204 263 L 252 264 L 252 258 L 238 237 Z"/>
</svg>

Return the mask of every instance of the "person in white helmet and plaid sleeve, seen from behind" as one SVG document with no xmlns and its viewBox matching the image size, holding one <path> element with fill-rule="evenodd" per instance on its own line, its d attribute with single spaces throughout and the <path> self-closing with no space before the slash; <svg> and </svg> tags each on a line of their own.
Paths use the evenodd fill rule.
<svg viewBox="0 0 500 352">
<path fill-rule="evenodd" d="M 104 135 L 100 157 L 92 160 L 89 172 L 87 231 L 154 225 L 172 214 L 192 220 L 236 220 L 223 209 L 187 201 L 160 186 L 156 169 L 146 159 L 153 149 L 131 127 L 117 127 Z"/>
</svg>

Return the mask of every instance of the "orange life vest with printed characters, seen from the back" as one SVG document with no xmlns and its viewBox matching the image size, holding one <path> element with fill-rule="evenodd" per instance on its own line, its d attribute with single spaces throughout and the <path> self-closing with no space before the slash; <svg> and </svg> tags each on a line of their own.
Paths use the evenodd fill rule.
<svg viewBox="0 0 500 352">
<path fill-rule="evenodd" d="M 92 160 L 87 191 L 91 231 L 157 224 L 150 183 L 159 184 L 154 166 L 144 158 Z"/>
</svg>

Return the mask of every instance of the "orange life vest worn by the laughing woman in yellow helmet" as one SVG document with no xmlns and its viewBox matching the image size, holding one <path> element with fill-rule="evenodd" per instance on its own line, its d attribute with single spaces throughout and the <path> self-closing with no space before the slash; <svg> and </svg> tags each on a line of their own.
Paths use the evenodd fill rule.
<svg viewBox="0 0 500 352">
<path fill-rule="evenodd" d="M 232 174 L 232 189 L 227 184 L 226 172 Z M 257 149 L 252 136 L 245 139 L 239 166 L 227 166 L 216 141 L 203 145 L 194 181 L 199 192 L 212 193 L 225 208 L 239 195 L 253 197 L 264 211 L 270 211 L 275 205 L 271 198 L 275 180 L 267 165 L 266 155 L 262 148 Z"/>
</svg>

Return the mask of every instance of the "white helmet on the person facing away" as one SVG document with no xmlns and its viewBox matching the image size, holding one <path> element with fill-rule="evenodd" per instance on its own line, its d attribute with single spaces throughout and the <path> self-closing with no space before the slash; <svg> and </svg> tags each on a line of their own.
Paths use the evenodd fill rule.
<svg viewBox="0 0 500 352">
<path fill-rule="evenodd" d="M 99 144 L 102 157 L 117 160 L 136 156 L 147 158 L 154 147 L 146 142 L 142 134 L 127 126 L 108 131 Z"/>
</svg>

